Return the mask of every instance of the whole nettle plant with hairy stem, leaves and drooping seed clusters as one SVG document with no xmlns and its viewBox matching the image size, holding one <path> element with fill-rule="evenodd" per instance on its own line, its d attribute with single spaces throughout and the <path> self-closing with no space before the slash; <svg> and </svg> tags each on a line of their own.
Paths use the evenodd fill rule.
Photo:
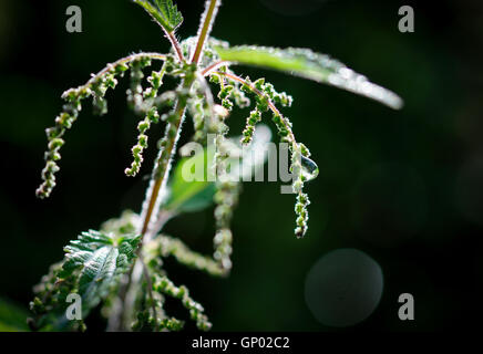
<svg viewBox="0 0 483 354">
<path fill-rule="evenodd" d="M 183 17 L 172 0 L 134 0 L 161 27 L 172 51 L 166 54 L 137 53 L 120 59 L 93 74 L 84 85 L 63 93 L 62 113 L 55 118 L 55 125 L 47 129 L 47 164 L 42 170 L 43 183 L 37 190 L 40 198 L 49 197 L 55 186 L 63 137 L 76 121 L 82 104 L 92 98 L 94 112 L 106 114 L 105 94 L 116 87 L 120 77 L 130 75 L 127 103 L 136 115 L 142 116 L 137 125 L 137 143 L 132 148 L 133 163 L 125 169 L 127 176 L 136 176 L 140 171 L 148 129 L 164 125 L 165 133 L 157 144 L 158 154 L 141 214 L 125 211 L 120 218 L 106 221 L 99 231 L 82 232 L 70 241 L 63 261 L 53 264 L 34 288 L 33 315 L 29 319 L 33 330 L 84 330 L 83 320 L 96 308 L 101 308 L 101 313 L 107 319 L 109 331 L 181 330 L 184 321 L 166 313 L 164 303 L 167 296 L 181 301 L 199 330 L 209 330 L 212 324 L 204 308 L 191 296 L 186 287 L 176 285 L 167 277 L 164 260 L 171 257 L 210 275 L 229 273 L 233 241 L 229 223 L 240 180 L 226 178 L 230 174 L 227 165 L 234 150 L 257 140 L 255 129 L 263 116 L 271 115 L 281 142 L 289 146 L 296 195 L 295 235 L 298 238 L 306 235 L 309 198 L 304 192 L 304 184 L 317 176 L 318 168 L 310 159 L 309 149 L 296 140 L 288 117 L 279 111 L 279 107 L 290 106 L 292 98 L 277 92 L 264 79 L 251 81 L 238 76 L 232 71 L 233 65 L 274 69 L 377 100 L 392 108 L 402 106 L 395 94 L 327 55 L 308 49 L 230 46 L 209 37 L 220 2 L 207 0 L 197 35 L 178 41 L 175 31 Z M 144 71 L 153 62 L 162 65 L 144 80 Z M 163 85 L 166 79 L 174 82 L 173 87 Z M 213 87 L 217 87 L 216 94 Z M 226 123 L 235 106 L 253 106 L 242 138 L 237 140 L 228 137 Z M 192 157 L 202 158 L 202 163 L 209 165 L 208 168 L 216 173 L 215 181 L 183 178 L 182 168 L 189 157 L 182 158 L 169 177 L 186 116 L 193 119 L 193 142 L 215 146 L 214 150 L 205 149 L 202 157 L 199 154 Z M 261 140 L 264 136 L 266 139 L 265 134 Z M 197 253 L 181 239 L 162 232 L 171 218 L 206 208 L 212 202 L 215 204 L 217 230 L 213 257 Z M 79 295 L 81 306 L 72 308 L 72 294 Z M 81 313 L 75 313 L 79 311 Z"/>
</svg>

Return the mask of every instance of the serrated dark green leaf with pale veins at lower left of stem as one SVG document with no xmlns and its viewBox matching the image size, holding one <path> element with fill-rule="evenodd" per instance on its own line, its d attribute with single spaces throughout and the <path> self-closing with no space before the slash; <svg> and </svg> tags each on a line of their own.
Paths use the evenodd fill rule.
<svg viewBox="0 0 483 354">
<path fill-rule="evenodd" d="M 120 275 L 126 273 L 135 259 L 141 236 L 115 237 L 90 230 L 65 247 L 65 262 L 60 278 L 80 270 L 78 292 L 85 316 L 109 295 Z"/>
</svg>

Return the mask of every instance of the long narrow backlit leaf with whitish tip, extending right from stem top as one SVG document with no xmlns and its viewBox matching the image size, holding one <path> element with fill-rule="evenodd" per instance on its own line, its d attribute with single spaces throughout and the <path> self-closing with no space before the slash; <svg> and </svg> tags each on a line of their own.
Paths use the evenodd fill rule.
<svg viewBox="0 0 483 354">
<path fill-rule="evenodd" d="M 371 83 L 341 62 L 309 49 L 217 45 L 215 50 L 224 61 L 284 71 L 376 100 L 394 110 L 403 105 L 393 92 Z"/>
</svg>

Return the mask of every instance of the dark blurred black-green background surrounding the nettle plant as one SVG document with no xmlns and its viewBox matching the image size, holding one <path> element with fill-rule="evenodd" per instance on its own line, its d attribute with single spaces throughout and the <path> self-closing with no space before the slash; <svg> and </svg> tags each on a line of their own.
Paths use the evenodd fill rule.
<svg viewBox="0 0 483 354">
<path fill-rule="evenodd" d="M 204 1 L 177 3 L 185 17 L 179 37 L 195 34 Z M 83 11 L 82 33 L 65 31 L 70 4 Z M 414 8 L 414 33 L 398 31 L 403 4 Z M 205 305 L 214 330 L 332 330 L 312 316 L 305 282 L 316 261 L 339 248 L 366 252 L 384 277 L 376 311 L 346 331 L 474 329 L 483 277 L 482 21 L 482 1 L 224 1 L 214 37 L 329 53 L 405 106 L 393 112 L 333 87 L 237 69 L 292 94 L 285 112 L 320 175 L 307 185 L 305 239 L 292 235 L 292 196 L 280 195 L 279 184 L 245 184 L 232 275 L 167 264 Z M 38 200 L 44 128 L 61 93 L 91 72 L 132 52 L 167 50 L 160 29 L 127 0 L 0 1 L 1 298 L 27 308 L 32 285 L 70 239 L 125 208 L 140 210 L 146 181 L 123 174 L 138 119 L 126 108 L 125 83 L 107 94 L 106 116 L 83 110 L 62 149 L 59 185 Z M 230 117 L 234 134 L 247 113 Z M 172 220 L 166 231 L 209 252 L 212 211 Z M 403 292 L 415 299 L 415 321 L 398 319 Z"/>
</svg>

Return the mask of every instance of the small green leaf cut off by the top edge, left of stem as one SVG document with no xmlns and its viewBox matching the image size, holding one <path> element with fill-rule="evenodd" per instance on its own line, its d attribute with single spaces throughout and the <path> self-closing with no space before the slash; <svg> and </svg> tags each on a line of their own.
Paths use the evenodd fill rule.
<svg viewBox="0 0 483 354">
<path fill-rule="evenodd" d="M 173 0 L 133 0 L 141 6 L 167 32 L 173 32 L 182 24 L 183 15 L 173 4 Z"/>
</svg>

